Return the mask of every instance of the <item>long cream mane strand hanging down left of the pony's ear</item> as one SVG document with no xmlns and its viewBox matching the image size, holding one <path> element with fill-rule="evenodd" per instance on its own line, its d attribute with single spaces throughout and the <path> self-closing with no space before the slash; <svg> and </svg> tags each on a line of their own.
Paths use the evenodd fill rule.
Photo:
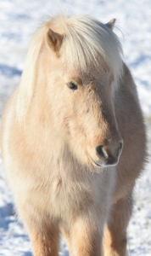
<svg viewBox="0 0 151 256">
<path fill-rule="evenodd" d="M 25 115 L 31 104 L 31 97 L 33 96 L 33 91 L 36 85 L 38 56 L 42 49 L 46 30 L 46 26 L 41 26 L 33 34 L 25 58 L 25 67 L 21 76 L 16 98 L 17 120 L 20 122 L 25 119 Z"/>
</svg>

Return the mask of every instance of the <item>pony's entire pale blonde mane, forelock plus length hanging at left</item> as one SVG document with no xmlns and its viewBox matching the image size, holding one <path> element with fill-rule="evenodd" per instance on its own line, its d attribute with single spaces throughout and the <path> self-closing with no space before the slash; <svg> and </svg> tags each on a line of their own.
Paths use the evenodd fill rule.
<svg viewBox="0 0 151 256">
<path fill-rule="evenodd" d="M 122 74 L 122 48 L 115 33 L 108 26 L 88 15 L 57 15 L 42 25 L 31 38 L 18 88 L 18 120 L 25 118 L 31 103 L 36 85 L 38 56 L 48 32 L 48 24 L 53 24 L 64 32 L 60 55 L 67 67 L 81 69 L 83 72 L 87 71 L 87 67 L 91 65 L 99 68 L 98 56 L 101 56 L 103 63 L 106 62 L 114 74 L 115 89 L 119 84 Z"/>
</svg>

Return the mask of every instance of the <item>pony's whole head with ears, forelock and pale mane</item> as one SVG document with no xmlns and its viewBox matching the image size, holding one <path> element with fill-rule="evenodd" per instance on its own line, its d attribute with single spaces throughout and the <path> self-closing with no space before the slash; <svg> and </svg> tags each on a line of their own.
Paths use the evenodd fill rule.
<svg viewBox="0 0 151 256">
<path fill-rule="evenodd" d="M 116 165 L 122 148 L 115 118 L 122 49 L 114 24 L 87 15 L 53 17 L 31 40 L 19 86 L 19 121 L 41 96 L 56 141 L 87 166 Z"/>
</svg>

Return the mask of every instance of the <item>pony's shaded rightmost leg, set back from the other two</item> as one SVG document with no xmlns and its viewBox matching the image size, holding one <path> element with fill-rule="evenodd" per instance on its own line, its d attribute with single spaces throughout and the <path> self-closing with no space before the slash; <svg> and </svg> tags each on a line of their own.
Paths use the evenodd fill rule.
<svg viewBox="0 0 151 256">
<path fill-rule="evenodd" d="M 104 256 L 127 256 L 126 228 L 132 211 L 132 198 L 127 195 L 115 203 L 104 232 Z"/>
</svg>

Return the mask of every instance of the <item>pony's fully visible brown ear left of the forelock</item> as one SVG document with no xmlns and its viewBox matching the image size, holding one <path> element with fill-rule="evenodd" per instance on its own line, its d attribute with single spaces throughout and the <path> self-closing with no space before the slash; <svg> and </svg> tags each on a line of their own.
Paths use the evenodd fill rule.
<svg viewBox="0 0 151 256">
<path fill-rule="evenodd" d="M 63 36 L 57 32 L 53 32 L 53 30 L 49 28 L 46 40 L 47 40 L 48 46 L 51 49 L 53 49 L 53 51 L 56 54 L 58 54 L 59 49 L 61 48 L 61 44 L 63 42 Z"/>
</svg>

